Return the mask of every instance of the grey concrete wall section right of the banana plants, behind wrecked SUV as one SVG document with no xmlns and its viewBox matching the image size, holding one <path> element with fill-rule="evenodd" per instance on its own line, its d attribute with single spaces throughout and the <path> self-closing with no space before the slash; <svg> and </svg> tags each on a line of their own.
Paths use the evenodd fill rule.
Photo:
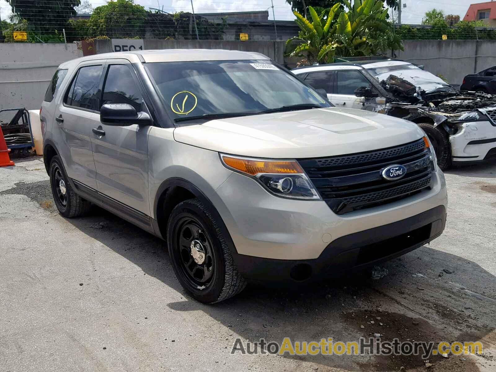
<svg viewBox="0 0 496 372">
<path fill-rule="evenodd" d="M 496 65 L 495 40 L 406 40 L 405 51 L 397 58 L 425 65 L 434 75 L 443 75 L 450 84 L 461 84 L 463 77 Z"/>
</svg>

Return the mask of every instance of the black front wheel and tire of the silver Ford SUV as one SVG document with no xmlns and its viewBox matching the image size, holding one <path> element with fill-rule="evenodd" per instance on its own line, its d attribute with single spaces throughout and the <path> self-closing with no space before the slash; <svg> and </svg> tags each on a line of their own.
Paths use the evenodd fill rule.
<svg viewBox="0 0 496 372">
<path fill-rule="evenodd" d="M 219 223 L 198 199 L 179 203 L 169 217 L 167 245 L 183 288 L 205 304 L 226 300 L 246 286 Z"/>
</svg>

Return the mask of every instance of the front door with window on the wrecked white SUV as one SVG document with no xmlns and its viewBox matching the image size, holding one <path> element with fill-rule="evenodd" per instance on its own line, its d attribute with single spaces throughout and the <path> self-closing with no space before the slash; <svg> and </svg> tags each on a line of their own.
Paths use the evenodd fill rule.
<svg viewBox="0 0 496 372">
<path fill-rule="evenodd" d="M 379 111 L 384 109 L 385 100 L 382 97 L 364 98 L 355 96 L 355 90 L 360 87 L 372 89 L 372 83 L 359 70 L 338 70 L 334 79 L 334 90 L 330 101 L 336 107 L 348 109 Z"/>
</svg>

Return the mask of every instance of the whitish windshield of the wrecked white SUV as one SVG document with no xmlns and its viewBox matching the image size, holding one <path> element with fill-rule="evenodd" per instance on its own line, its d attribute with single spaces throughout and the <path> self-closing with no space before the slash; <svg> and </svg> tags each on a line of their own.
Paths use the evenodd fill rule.
<svg viewBox="0 0 496 372">
<path fill-rule="evenodd" d="M 425 71 L 420 67 L 417 67 L 411 63 L 406 64 L 396 64 L 390 66 L 377 66 L 373 68 L 367 68 L 372 76 L 375 76 L 377 80 L 386 80 L 389 75 L 395 75 L 405 79 L 430 93 L 434 90 L 444 90 L 447 92 L 456 92 L 448 83 L 442 80 L 440 77 L 433 75 L 429 71 Z"/>
</svg>

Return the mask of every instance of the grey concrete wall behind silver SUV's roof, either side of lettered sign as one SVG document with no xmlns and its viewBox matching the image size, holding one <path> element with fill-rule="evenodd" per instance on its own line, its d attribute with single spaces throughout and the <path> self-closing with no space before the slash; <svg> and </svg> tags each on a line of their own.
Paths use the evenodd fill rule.
<svg viewBox="0 0 496 372">
<path fill-rule="evenodd" d="M 144 49 L 227 49 L 257 52 L 284 63 L 284 41 L 143 40 Z M 112 52 L 110 40 L 95 40 L 96 53 Z"/>
</svg>

